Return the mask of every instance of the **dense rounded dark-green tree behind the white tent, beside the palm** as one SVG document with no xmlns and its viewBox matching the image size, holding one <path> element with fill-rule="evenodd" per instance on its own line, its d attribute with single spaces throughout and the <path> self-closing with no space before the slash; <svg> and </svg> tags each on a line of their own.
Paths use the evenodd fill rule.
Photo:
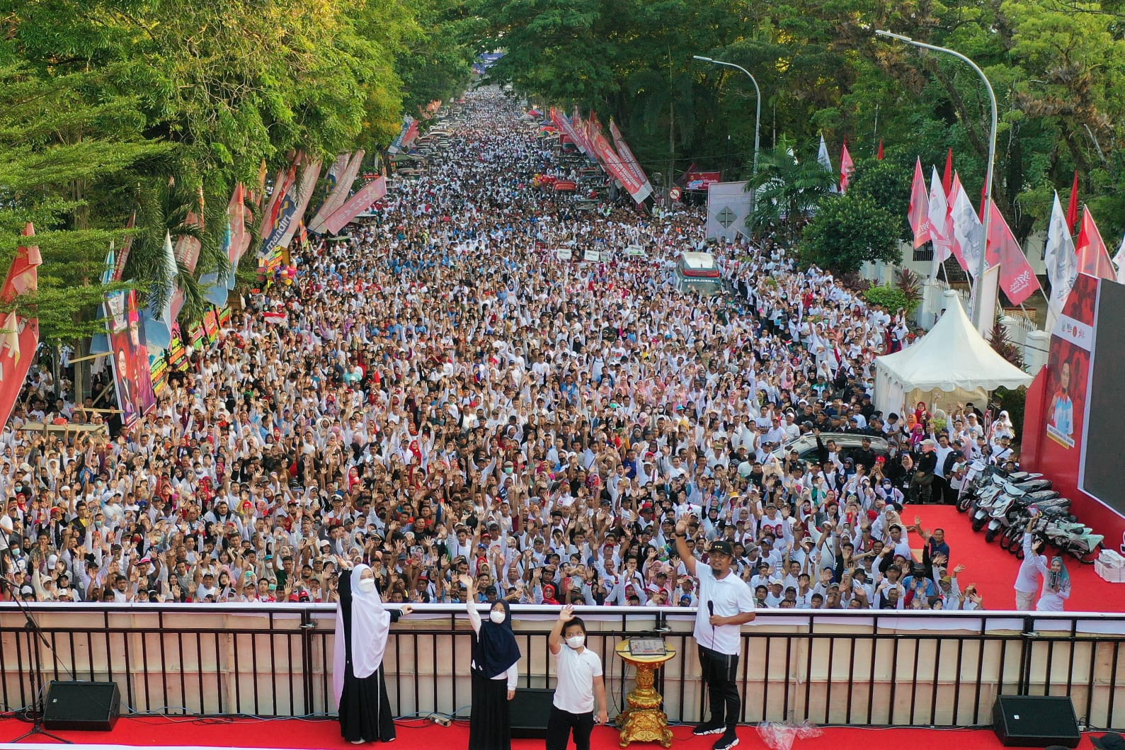
<svg viewBox="0 0 1125 750">
<path fill-rule="evenodd" d="M 856 271 L 866 261 L 899 259 L 898 218 L 864 195 L 848 191 L 820 204 L 798 245 L 801 262 L 835 274 Z"/>
</svg>

